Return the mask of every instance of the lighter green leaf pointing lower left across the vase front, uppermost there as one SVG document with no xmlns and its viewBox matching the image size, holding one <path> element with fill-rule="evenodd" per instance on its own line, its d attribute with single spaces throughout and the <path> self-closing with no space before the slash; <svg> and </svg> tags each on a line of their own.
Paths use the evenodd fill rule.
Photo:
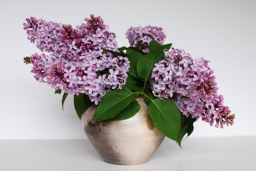
<svg viewBox="0 0 256 171">
<path fill-rule="evenodd" d="M 138 92 L 133 93 L 127 87 L 108 91 L 98 104 L 92 120 L 113 118 L 137 98 Z"/>
</svg>

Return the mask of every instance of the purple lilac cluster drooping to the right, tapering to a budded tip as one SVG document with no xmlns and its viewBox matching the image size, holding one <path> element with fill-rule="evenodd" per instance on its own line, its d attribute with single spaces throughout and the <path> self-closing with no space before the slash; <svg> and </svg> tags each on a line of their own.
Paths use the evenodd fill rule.
<svg viewBox="0 0 256 171">
<path fill-rule="evenodd" d="M 183 49 L 164 52 L 164 60 L 152 70 L 152 89 L 156 97 L 171 99 L 185 116 L 201 118 L 215 127 L 232 125 L 234 114 L 223 105 L 217 83 L 207 60 L 192 59 Z"/>
</svg>

